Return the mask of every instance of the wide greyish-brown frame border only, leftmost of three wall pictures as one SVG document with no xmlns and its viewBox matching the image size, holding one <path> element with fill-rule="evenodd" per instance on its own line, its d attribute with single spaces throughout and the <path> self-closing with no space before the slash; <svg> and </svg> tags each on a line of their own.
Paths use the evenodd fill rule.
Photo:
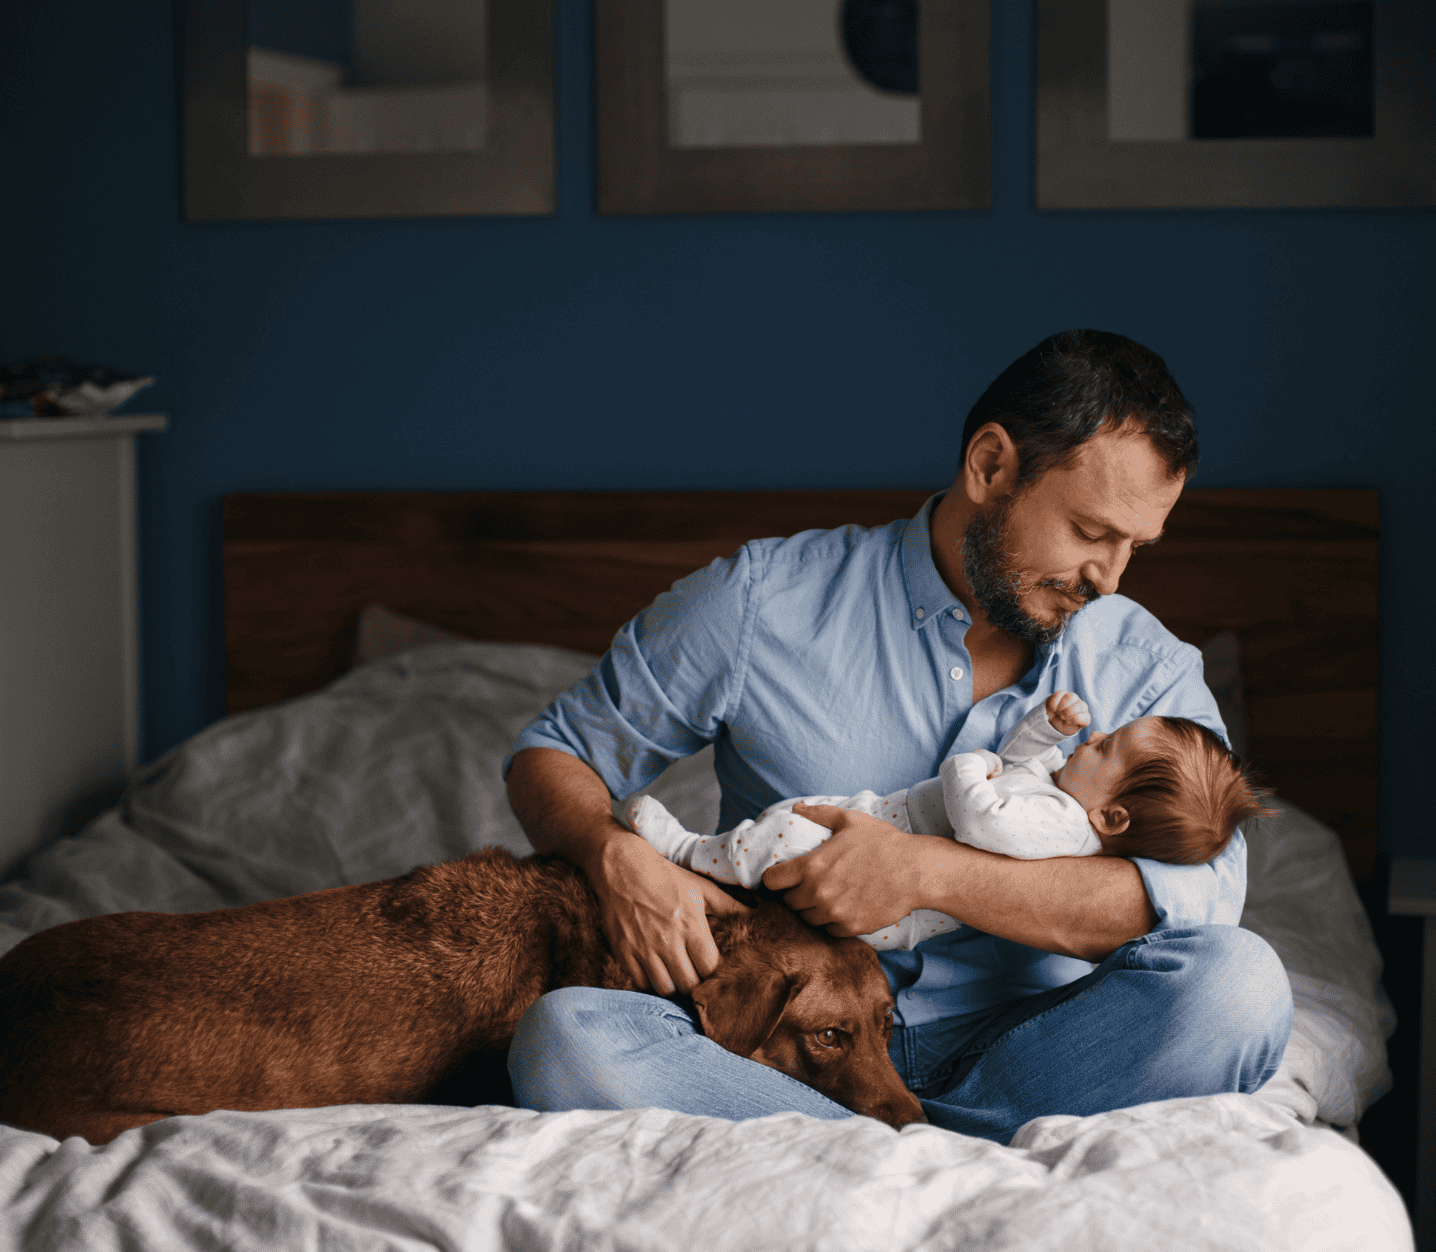
<svg viewBox="0 0 1436 1252">
<path fill-rule="evenodd" d="M 467 151 L 251 155 L 248 17 L 182 0 L 187 220 L 554 211 L 553 0 L 488 0 L 487 134 Z"/>
</svg>

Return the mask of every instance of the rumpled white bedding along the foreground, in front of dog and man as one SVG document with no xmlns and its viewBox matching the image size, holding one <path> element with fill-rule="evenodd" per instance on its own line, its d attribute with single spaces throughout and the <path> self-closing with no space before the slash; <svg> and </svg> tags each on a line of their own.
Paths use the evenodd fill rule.
<svg viewBox="0 0 1436 1252">
<path fill-rule="evenodd" d="M 648 1108 L 211 1113 L 105 1149 L 0 1137 L 0 1246 L 167 1249 L 1402 1249 L 1400 1200 L 1258 1100 L 931 1126 Z"/>
</svg>

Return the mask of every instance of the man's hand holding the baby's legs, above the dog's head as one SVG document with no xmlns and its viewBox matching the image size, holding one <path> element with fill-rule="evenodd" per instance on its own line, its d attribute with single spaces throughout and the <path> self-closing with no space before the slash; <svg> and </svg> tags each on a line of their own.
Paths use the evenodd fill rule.
<svg viewBox="0 0 1436 1252">
<path fill-rule="evenodd" d="M 920 907 L 920 836 L 833 804 L 798 801 L 793 811 L 833 831 L 821 847 L 763 876 L 804 922 L 833 935 L 870 935 Z"/>
</svg>

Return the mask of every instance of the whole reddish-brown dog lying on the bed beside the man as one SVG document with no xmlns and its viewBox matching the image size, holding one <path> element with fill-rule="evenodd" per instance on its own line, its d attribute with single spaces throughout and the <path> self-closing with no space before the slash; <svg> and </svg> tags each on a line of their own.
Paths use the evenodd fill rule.
<svg viewBox="0 0 1436 1252">
<path fill-rule="evenodd" d="M 854 1113 L 922 1117 L 873 949 L 774 903 L 714 938 L 722 962 L 692 995 L 709 1038 Z M 108 1143 L 213 1108 L 432 1101 L 501 1062 L 556 986 L 635 989 L 583 877 L 500 849 L 213 913 L 86 917 L 0 959 L 0 1121 Z"/>
</svg>

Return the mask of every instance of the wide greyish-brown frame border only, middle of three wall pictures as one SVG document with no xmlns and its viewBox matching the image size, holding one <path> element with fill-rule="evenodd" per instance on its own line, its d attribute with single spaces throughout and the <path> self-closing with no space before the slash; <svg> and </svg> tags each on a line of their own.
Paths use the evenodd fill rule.
<svg viewBox="0 0 1436 1252">
<path fill-rule="evenodd" d="M 988 0 L 926 0 L 918 142 L 675 146 L 663 0 L 597 0 L 603 214 L 987 208 Z"/>
</svg>

